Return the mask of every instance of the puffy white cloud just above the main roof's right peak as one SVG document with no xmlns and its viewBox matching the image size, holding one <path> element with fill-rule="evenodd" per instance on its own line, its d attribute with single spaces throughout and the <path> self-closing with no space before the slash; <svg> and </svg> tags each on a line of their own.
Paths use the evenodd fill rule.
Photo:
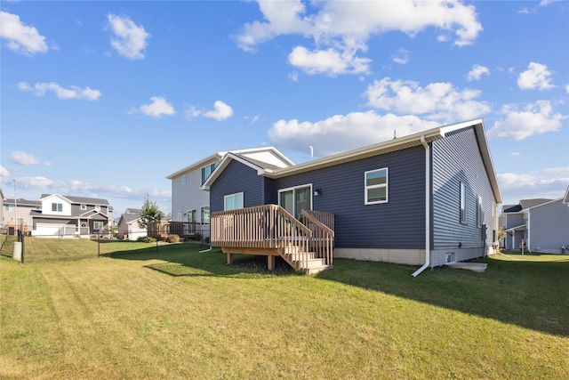
<svg viewBox="0 0 569 380">
<path fill-rule="evenodd" d="M 418 82 L 392 81 L 389 77 L 376 80 L 367 87 L 367 105 L 400 114 L 424 115 L 428 119 L 454 122 L 481 117 L 490 112 L 482 101 L 475 101 L 480 91 L 459 90 L 450 83 L 431 83 L 421 87 Z"/>
</svg>

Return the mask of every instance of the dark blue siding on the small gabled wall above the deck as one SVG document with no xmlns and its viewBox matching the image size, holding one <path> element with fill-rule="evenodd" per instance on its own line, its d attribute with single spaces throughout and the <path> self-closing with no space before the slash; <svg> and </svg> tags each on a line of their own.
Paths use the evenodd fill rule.
<svg viewBox="0 0 569 380">
<path fill-rule="evenodd" d="M 211 212 L 223 211 L 224 197 L 243 192 L 244 207 L 263 205 L 265 178 L 260 177 L 255 169 L 238 161 L 231 161 L 212 183 L 210 189 Z"/>
</svg>

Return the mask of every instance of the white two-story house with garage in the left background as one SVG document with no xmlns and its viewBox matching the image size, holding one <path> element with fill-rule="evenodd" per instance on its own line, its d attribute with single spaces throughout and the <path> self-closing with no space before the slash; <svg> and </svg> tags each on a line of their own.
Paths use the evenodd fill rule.
<svg viewBox="0 0 569 380">
<path fill-rule="evenodd" d="M 31 212 L 34 236 L 89 236 L 113 219 L 106 199 L 43 194 L 40 202 Z"/>
</svg>

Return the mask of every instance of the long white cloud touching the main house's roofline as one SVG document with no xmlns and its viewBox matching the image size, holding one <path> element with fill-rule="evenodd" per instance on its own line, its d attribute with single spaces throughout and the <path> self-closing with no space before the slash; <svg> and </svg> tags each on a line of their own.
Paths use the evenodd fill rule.
<svg viewBox="0 0 569 380">
<path fill-rule="evenodd" d="M 414 116 L 378 115 L 373 110 L 335 115 L 317 122 L 279 120 L 268 131 L 272 143 L 284 149 L 306 150 L 309 145 L 320 155 L 352 150 L 372 143 L 434 128 L 439 124 Z"/>
</svg>

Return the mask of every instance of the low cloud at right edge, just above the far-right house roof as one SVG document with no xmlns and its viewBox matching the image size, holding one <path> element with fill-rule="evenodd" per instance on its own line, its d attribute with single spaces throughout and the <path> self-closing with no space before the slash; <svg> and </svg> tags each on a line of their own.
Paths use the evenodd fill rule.
<svg viewBox="0 0 569 380">
<path fill-rule="evenodd" d="M 546 167 L 525 174 L 498 174 L 502 193 L 509 194 L 506 204 L 516 204 L 520 199 L 564 196 L 569 186 L 569 166 Z"/>
</svg>

